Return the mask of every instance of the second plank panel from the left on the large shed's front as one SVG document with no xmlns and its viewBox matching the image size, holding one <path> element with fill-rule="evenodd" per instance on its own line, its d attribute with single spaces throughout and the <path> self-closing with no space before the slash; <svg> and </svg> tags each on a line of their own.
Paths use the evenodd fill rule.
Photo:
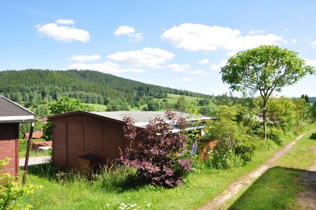
<svg viewBox="0 0 316 210">
<path fill-rule="evenodd" d="M 68 168 L 78 166 L 78 157 L 82 155 L 83 126 L 68 125 L 67 127 L 67 164 Z"/>
</svg>

